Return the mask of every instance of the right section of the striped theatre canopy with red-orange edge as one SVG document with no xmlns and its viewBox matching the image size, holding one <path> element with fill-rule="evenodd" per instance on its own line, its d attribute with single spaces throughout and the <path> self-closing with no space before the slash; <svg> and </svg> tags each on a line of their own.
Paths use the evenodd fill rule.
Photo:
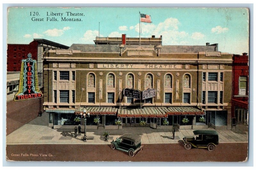
<svg viewBox="0 0 256 170">
<path fill-rule="evenodd" d="M 202 110 L 196 107 L 164 107 L 168 115 L 203 115 Z"/>
</svg>

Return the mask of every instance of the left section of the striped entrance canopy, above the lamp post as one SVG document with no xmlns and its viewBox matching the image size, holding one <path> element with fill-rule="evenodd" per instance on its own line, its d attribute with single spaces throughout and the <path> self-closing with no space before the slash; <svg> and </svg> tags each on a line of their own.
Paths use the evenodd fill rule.
<svg viewBox="0 0 256 170">
<path fill-rule="evenodd" d="M 85 107 L 87 113 L 91 115 L 116 115 L 117 108 L 115 107 Z M 84 110 L 83 109 L 83 110 Z"/>
</svg>

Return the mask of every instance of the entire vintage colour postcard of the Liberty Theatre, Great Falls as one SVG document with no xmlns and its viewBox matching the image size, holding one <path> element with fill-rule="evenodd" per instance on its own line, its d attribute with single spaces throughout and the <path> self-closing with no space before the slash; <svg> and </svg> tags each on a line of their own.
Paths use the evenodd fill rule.
<svg viewBox="0 0 256 170">
<path fill-rule="evenodd" d="M 7 161 L 248 160 L 247 8 L 7 11 Z"/>
</svg>

